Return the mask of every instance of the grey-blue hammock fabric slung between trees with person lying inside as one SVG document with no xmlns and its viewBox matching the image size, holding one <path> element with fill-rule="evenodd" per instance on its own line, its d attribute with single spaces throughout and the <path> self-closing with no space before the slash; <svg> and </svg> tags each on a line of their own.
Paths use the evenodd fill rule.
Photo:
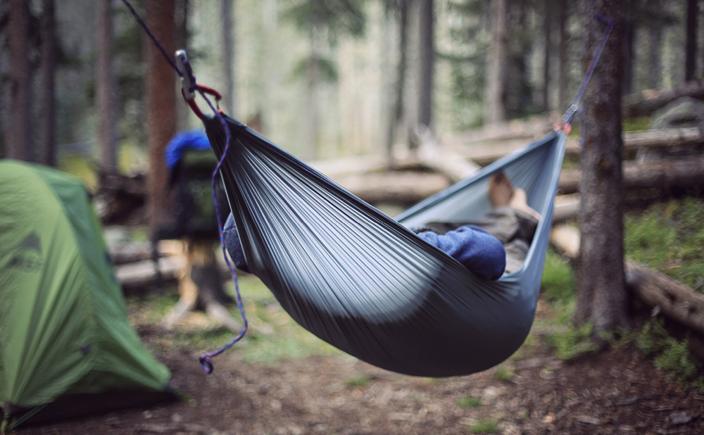
<svg viewBox="0 0 704 435">
<path fill-rule="evenodd" d="M 225 115 L 224 115 L 225 116 Z M 531 328 L 565 150 L 548 134 L 391 219 L 225 116 L 221 170 L 250 272 L 303 327 L 367 363 L 446 377 L 486 370 Z M 218 157 L 225 131 L 205 121 Z M 503 170 L 543 216 L 524 266 L 498 281 L 472 275 L 409 228 L 477 220 Z"/>
</svg>

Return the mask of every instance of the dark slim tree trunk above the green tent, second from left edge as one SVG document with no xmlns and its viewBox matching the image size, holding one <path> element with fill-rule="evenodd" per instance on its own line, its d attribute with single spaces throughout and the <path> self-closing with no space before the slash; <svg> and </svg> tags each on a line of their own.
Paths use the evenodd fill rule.
<svg viewBox="0 0 704 435">
<path fill-rule="evenodd" d="M 56 166 L 56 25 L 54 0 L 42 3 L 42 158 Z"/>
</svg>

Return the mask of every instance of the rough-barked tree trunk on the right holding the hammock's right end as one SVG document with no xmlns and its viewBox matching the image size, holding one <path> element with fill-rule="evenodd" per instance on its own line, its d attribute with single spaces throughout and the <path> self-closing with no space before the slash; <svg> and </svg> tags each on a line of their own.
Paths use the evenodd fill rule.
<svg viewBox="0 0 704 435">
<path fill-rule="evenodd" d="M 616 20 L 601 61 L 584 95 L 582 244 L 577 269 L 577 324 L 593 322 L 595 336 L 627 326 L 623 264 L 623 177 L 621 138 L 622 6 L 620 0 L 584 0 L 584 70 L 601 39 L 604 25 L 594 15 Z"/>
</svg>

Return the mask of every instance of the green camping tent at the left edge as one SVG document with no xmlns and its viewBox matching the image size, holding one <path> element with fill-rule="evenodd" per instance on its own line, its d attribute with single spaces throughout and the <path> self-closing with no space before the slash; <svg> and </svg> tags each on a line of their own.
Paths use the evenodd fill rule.
<svg viewBox="0 0 704 435">
<path fill-rule="evenodd" d="M 0 406 L 15 424 L 172 397 L 77 179 L 0 160 L 0 298 Z"/>
</svg>

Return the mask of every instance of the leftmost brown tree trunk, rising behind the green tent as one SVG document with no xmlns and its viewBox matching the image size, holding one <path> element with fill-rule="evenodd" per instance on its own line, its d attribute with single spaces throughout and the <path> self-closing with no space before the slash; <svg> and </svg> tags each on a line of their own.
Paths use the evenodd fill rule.
<svg viewBox="0 0 704 435">
<path fill-rule="evenodd" d="M 33 160 L 30 92 L 32 72 L 29 58 L 30 10 L 27 1 L 10 2 L 11 114 L 8 122 L 7 157 Z"/>
</svg>

